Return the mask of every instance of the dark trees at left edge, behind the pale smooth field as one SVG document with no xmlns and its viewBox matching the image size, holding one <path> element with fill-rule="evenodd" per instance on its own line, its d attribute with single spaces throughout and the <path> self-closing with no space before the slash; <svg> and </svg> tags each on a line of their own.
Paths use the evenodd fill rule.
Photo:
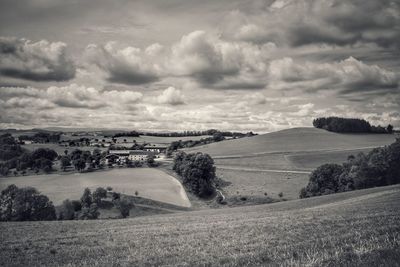
<svg viewBox="0 0 400 267">
<path fill-rule="evenodd" d="M 26 172 L 27 169 L 48 173 L 52 171 L 57 153 L 48 148 L 38 148 L 33 152 L 22 149 L 10 134 L 0 136 L 0 175 L 6 176 L 11 169 Z"/>
</svg>

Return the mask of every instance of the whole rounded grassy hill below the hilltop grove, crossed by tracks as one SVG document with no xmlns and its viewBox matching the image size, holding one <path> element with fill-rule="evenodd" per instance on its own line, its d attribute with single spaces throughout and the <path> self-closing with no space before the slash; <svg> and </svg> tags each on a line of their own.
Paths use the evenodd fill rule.
<svg viewBox="0 0 400 267">
<path fill-rule="evenodd" d="M 187 149 L 213 156 L 219 177 L 230 182 L 227 196 L 297 199 L 309 172 L 324 163 L 342 163 L 351 154 L 368 152 L 395 141 L 391 134 L 340 134 L 316 128 L 227 140 Z M 308 172 L 308 173 L 307 173 Z"/>
</svg>

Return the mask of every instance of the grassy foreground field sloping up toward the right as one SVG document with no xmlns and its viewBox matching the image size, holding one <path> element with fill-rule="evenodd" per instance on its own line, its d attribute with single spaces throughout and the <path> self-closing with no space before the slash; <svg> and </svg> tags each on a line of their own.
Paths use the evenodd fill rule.
<svg viewBox="0 0 400 267">
<path fill-rule="evenodd" d="M 0 223 L 2 266 L 398 266 L 400 186 L 125 220 Z"/>
</svg>

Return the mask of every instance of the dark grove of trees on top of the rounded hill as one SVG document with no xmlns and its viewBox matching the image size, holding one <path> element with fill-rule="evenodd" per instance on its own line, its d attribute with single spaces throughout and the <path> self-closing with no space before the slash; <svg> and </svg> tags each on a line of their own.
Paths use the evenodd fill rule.
<svg viewBox="0 0 400 267">
<path fill-rule="evenodd" d="M 386 128 L 380 125 L 373 126 L 364 119 L 327 117 L 313 121 L 315 128 L 325 129 L 337 133 L 392 133 L 393 126 Z"/>
</svg>

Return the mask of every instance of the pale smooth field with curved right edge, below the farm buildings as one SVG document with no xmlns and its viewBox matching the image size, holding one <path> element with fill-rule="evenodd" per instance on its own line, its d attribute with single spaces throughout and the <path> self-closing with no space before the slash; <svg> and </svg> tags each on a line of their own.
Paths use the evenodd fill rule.
<svg viewBox="0 0 400 267">
<path fill-rule="evenodd" d="M 113 191 L 190 207 L 185 190 L 178 180 L 151 168 L 114 169 L 90 173 L 48 174 L 0 178 L 0 189 L 10 184 L 18 187 L 32 186 L 47 195 L 55 205 L 65 199 L 79 199 L 86 187 L 111 186 Z"/>
</svg>

